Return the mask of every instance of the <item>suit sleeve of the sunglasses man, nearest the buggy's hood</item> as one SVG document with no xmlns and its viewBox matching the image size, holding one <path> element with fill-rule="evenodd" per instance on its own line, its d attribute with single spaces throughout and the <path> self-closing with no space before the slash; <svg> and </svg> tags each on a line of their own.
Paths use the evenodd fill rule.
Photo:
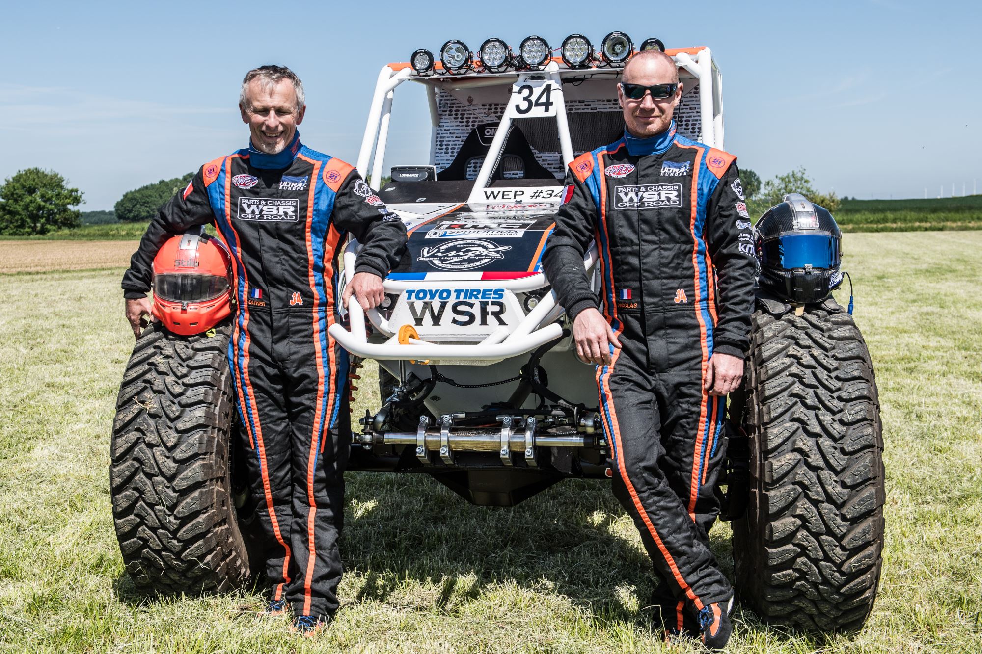
<svg viewBox="0 0 982 654">
<path fill-rule="evenodd" d="M 565 184 L 564 202 L 556 214 L 556 228 L 546 243 L 542 268 L 560 306 L 573 321 L 583 309 L 598 306 L 597 294 L 590 290 L 583 268 L 583 255 L 594 237 L 597 206 L 573 170 L 566 171 Z"/>
</svg>

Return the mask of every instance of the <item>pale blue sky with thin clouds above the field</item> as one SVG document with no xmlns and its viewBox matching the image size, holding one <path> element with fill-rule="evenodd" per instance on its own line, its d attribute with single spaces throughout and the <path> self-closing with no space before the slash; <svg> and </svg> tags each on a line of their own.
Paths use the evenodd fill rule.
<svg viewBox="0 0 982 654">
<path fill-rule="evenodd" d="M 511 5 L 5 3 L 0 178 L 53 169 L 84 191 L 82 209 L 112 208 L 245 146 L 239 84 L 266 63 L 304 82 L 304 142 L 354 162 L 379 68 L 417 47 L 530 33 L 559 45 L 574 31 L 598 42 L 622 29 L 713 49 L 727 149 L 761 178 L 804 166 L 819 190 L 860 198 L 948 196 L 953 184 L 959 195 L 973 181 L 982 192 L 975 3 L 542 2 L 514 5 L 520 16 Z M 404 89 L 387 165 L 426 159 L 424 99 Z"/>
</svg>

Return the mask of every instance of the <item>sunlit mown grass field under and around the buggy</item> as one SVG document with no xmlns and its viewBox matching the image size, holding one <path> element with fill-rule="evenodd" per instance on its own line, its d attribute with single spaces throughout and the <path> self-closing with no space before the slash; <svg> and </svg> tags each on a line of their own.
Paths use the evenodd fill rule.
<svg viewBox="0 0 982 654">
<path fill-rule="evenodd" d="M 852 636 L 738 611 L 730 651 L 982 651 L 980 250 L 982 232 L 846 237 L 883 406 L 880 596 Z M 136 595 L 108 494 L 133 344 L 121 274 L 0 275 L 0 651 L 664 651 L 638 611 L 651 587 L 640 540 L 599 481 L 501 510 L 421 477 L 349 474 L 342 609 L 315 639 L 261 617 L 259 592 Z M 728 572 L 729 539 L 714 529 Z"/>
</svg>

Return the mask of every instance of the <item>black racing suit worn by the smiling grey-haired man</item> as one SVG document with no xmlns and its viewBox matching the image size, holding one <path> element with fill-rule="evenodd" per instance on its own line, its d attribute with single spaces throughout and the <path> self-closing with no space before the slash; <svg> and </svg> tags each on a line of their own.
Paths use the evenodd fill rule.
<svg viewBox="0 0 982 654">
<path fill-rule="evenodd" d="M 214 223 L 233 257 L 238 312 L 229 342 L 249 481 L 267 537 L 272 599 L 295 616 L 338 608 L 338 536 L 351 427 L 348 355 L 328 334 L 338 319 L 336 254 L 352 234 L 355 272 L 385 277 L 406 228 L 354 168 L 300 144 L 254 149 L 198 170 L 150 223 L 123 277 L 127 298 L 150 289 L 160 246 Z"/>
</svg>

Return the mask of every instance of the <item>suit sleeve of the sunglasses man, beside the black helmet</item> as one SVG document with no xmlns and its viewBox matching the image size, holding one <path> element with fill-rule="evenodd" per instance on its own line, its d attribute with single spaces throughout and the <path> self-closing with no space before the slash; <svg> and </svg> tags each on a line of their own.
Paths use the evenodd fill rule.
<svg viewBox="0 0 982 654">
<path fill-rule="evenodd" d="M 737 190 L 739 194 L 737 194 Z M 756 274 L 753 228 L 740 195 L 736 163 L 723 174 L 706 207 L 705 239 L 717 276 L 713 352 L 742 358 L 750 346 L 750 314 Z"/>
</svg>

